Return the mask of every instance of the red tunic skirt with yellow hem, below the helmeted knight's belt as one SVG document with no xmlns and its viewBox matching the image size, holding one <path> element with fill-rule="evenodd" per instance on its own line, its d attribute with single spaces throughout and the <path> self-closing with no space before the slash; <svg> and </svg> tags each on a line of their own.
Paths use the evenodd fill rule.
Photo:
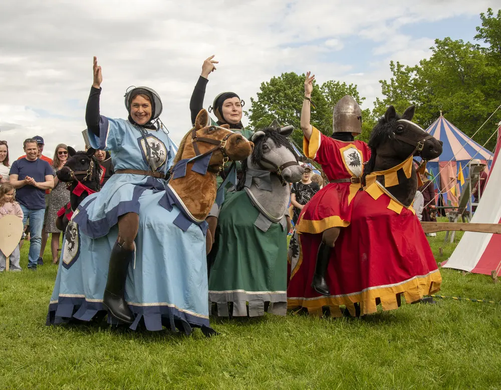
<svg viewBox="0 0 501 390">
<path fill-rule="evenodd" d="M 303 207 L 296 224 L 301 233 L 321 233 L 330 227 L 346 227 L 350 224 L 352 197 L 360 184 L 330 183 L 317 192 Z"/>
</svg>

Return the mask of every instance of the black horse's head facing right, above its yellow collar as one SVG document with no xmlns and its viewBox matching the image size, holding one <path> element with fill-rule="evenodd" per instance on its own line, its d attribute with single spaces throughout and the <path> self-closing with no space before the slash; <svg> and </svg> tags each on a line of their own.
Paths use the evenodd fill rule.
<svg viewBox="0 0 501 390">
<path fill-rule="evenodd" d="M 365 166 L 364 176 L 374 170 L 392 168 L 411 155 L 420 156 L 423 160 L 440 156 L 442 142 L 411 121 L 414 109 L 415 106 L 411 105 L 400 116 L 390 105 L 384 116 L 378 120 L 369 139 L 371 158 Z"/>
</svg>

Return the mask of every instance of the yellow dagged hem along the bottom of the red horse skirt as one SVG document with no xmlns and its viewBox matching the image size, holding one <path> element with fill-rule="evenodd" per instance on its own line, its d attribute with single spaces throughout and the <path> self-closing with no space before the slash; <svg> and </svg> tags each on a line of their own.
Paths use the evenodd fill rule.
<svg viewBox="0 0 501 390">
<path fill-rule="evenodd" d="M 311 315 L 322 316 L 322 307 L 328 306 L 332 317 L 341 317 L 340 306 L 344 305 L 355 315 L 355 303 L 360 303 L 360 314 L 371 314 L 377 311 L 376 299 L 381 301 L 383 310 L 398 308 L 397 295 L 403 294 L 408 303 L 416 302 L 425 295 L 440 290 L 442 277 L 439 270 L 431 271 L 424 276 L 416 276 L 401 283 L 387 286 L 377 286 L 358 293 L 315 298 L 288 298 L 288 309 L 304 307 Z"/>
</svg>

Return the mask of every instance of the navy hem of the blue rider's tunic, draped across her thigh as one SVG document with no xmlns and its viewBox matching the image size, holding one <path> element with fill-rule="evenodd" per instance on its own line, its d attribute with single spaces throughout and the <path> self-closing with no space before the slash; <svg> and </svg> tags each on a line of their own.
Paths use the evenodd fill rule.
<svg viewBox="0 0 501 390">
<path fill-rule="evenodd" d="M 87 207 L 92 203 L 92 201 L 87 203 L 85 206 L 79 206 L 77 209 L 78 214 L 75 215 L 73 221 L 78 224 L 80 231 L 85 235 L 91 238 L 103 237 L 108 234 L 112 226 L 117 224 L 119 216 L 127 213 L 139 214 L 139 197 L 145 190 L 145 187 L 135 185 L 131 200 L 120 202 L 109 210 L 103 218 L 95 221 L 91 221 L 89 219 L 89 214 L 87 213 Z"/>
</svg>

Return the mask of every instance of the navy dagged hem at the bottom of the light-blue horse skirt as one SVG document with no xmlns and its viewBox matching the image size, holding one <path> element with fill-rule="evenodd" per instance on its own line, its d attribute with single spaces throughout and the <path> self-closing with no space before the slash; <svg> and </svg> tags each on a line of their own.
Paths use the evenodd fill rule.
<svg viewBox="0 0 501 390">
<path fill-rule="evenodd" d="M 165 326 L 173 332 L 179 330 L 189 335 L 193 328 L 211 329 L 208 319 L 196 317 L 169 306 L 129 305 L 129 309 L 136 316 L 134 322 L 129 326 L 132 330 L 137 329 L 141 318 L 149 331 L 162 330 Z M 59 297 L 57 303 L 49 305 L 46 325 L 68 323 L 70 320 L 88 322 L 94 318 L 98 319 L 99 313 L 103 313 L 105 310 L 102 302 L 89 302 L 85 298 Z M 118 324 L 119 321 L 108 315 L 108 323 Z"/>
</svg>

